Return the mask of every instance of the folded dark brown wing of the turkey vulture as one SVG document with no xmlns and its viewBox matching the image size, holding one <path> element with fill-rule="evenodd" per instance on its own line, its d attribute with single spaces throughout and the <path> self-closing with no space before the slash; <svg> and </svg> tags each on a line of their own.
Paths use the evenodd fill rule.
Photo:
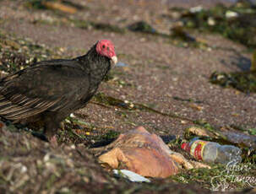
<svg viewBox="0 0 256 194">
<path fill-rule="evenodd" d="M 0 82 L 0 116 L 20 120 L 45 110 L 72 109 L 86 98 L 89 76 L 71 60 L 41 62 L 14 73 Z"/>
</svg>

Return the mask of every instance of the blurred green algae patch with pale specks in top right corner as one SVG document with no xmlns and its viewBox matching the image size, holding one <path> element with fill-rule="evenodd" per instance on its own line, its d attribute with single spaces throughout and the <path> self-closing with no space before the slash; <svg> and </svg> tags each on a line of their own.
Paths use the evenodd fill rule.
<svg viewBox="0 0 256 194">
<path fill-rule="evenodd" d="M 174 11 L 181 14 L 178 20 L 182 22 L 184 30 L 218 33 L 245 46 L 256 47 L 256 8 L 245 1 L 230 7 L 218 4 L 198 11 L 175 8 L 170 10 Z"/>
</svg>

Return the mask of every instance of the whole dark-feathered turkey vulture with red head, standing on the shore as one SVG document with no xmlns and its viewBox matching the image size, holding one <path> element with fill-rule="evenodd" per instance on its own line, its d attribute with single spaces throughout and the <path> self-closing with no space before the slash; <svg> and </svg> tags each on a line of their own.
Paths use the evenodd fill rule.
<svg viewBox="0 0 256 194">
<path fill-rule="evenodd" d="M 43 121 L 53 137 L 60 121 L 83 108 L 117 63 L 114 45 L 100 40 L 84 56 L 43 61 L 0 80 L 0 116 L 12 121 Z"/>
</svg>

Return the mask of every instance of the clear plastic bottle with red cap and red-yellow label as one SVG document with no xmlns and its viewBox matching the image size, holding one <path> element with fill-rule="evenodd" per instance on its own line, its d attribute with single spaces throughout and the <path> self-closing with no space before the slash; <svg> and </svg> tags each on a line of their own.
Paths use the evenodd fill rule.
<svg viewBox="0 0 256 194">
<path fill-rule="evenodd" d="M 194 159 L 208 163 L 237 164 L 242 161 L 241 149 L 231 145 L 196 139 L 190 143 L 182 143 L 182 149 L 191 154 Z"/>
</svg>

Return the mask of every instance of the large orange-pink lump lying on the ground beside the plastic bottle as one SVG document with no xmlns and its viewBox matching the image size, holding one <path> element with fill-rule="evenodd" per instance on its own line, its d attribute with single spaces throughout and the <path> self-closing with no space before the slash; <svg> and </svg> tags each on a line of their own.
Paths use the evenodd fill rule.
<svg viewBox="0 0 256 194">
<path fill-rule="evenodd" d="M 131 170 L 139 175 L 166 178 L 178 172 L 171 158 L 173 152 L 161 140 L 144 127 L 121 134 L 112 143 L 112 150 L 102 154 L 99 160 L 113 169 Z"/>
</svg>

